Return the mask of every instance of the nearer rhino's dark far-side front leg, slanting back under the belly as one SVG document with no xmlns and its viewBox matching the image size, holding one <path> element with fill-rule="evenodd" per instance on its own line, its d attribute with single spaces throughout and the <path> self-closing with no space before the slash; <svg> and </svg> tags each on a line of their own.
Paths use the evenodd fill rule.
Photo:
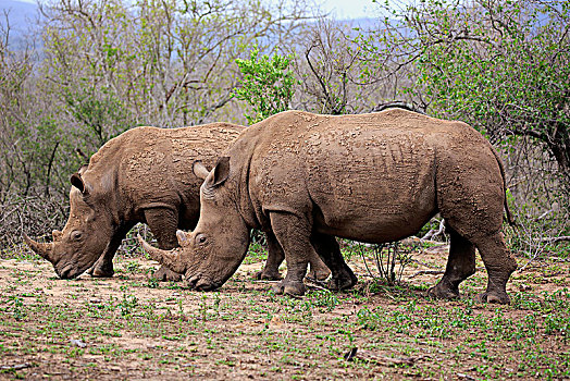
<svg viewBox="0 0 570 381">
<path fill-rule="evenodd" d="M 333 273 L 326 286 L 333 291 L 354 287 L 357 283 L 357 278 L 348 265 L 346 265 L 336 238 L 326 234 L 313 233 L 311 243 L 327 266 L 327 270 L 331 269 Z"/>
</svg>

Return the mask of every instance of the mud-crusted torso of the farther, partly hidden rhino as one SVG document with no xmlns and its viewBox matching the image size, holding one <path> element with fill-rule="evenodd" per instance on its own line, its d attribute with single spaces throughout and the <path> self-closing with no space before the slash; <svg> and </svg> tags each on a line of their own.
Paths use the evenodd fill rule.
<svg viewBox="0 0 570 381">
<path fill-rule="evenodd" d="M 112 172 L 125 205 L 136 209 L 199 202 L 199 186 L 191 167 L 195 160 L 212 165 L 233 143 L 241 126 L 212 123 L 182 128 L 136 127 L 109 140 L 95 153 L 88 171 Z M 107 181 L 109 183 L 109 181 Z"/>
</svg>

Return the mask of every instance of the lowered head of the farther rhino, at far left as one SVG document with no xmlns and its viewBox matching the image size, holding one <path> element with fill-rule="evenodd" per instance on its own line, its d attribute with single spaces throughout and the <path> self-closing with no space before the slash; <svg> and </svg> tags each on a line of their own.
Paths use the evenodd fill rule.
<svg viewBox="0 0 570 381">
<path fill-rule="evenodd" d="M 112 213 L 107 202 L 83 179 L 82 168 L 71 177 L 70 217 L 62 232 L 53 231 L 52 243 L 37 243 L 24 234 L 26 244 L 49 260 L 62 279 L 75 278 L 101 256 L 113 235 Z"/>
</svg>

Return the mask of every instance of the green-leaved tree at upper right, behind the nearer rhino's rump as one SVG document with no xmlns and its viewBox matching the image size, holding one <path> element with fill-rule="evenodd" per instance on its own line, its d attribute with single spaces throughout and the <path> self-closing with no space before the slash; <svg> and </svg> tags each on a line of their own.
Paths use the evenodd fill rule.
<svg viewBox="0 0 570 381">
<path fill-rule="evenodd" d="M 531 137 L 570 181 L 569 1 L 423 0 L 396 16 L 382 40 L 414 63 L 430 112 L 494 143 Z"/>
</svg>

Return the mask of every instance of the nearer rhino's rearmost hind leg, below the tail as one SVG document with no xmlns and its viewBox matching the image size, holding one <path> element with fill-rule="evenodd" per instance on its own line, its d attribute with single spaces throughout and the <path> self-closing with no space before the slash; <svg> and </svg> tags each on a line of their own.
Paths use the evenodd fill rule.
<svg viewBox="0 0 570 381">
<path fill-rule="evenodd" d="M 480 295 L 481 302 L 509 304 L 507 281 L 517 270 L 517 260 L 510 255 L 500 232 L 475 242 L 488 274 L 487 290 Z"/>
</svg>

